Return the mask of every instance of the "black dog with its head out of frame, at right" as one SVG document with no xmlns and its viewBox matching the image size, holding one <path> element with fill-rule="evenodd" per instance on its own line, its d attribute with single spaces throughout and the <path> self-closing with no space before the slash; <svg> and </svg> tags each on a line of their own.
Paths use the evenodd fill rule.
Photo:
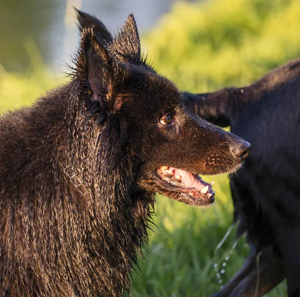
<svg viewBox="0 0 300 297">
<path fill-rule="evenodd" d="M 186 93 L 190 109 L 252 144 L 250 157 L 230 177 L 238 236 L 251 245 L 243 268 L 215 297 L 250 297 L 287 280 L 300 296 L 300 60 L 243 88 Z"/>
</svg>

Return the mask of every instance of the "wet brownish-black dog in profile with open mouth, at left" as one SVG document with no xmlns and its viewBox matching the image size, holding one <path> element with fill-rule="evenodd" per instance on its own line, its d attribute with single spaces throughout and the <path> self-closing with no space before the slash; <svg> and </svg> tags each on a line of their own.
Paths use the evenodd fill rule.
<svg viewBox="0 0 300 297">
<path fill-rule="evenodd" d="M 1 296 L 129 294 L 153 194 L 210 205 L 198 174 L 234 171 L 249 149 L 147 65 L 133 15 L 109 40 L 82 28 L 75 64 L 0 118 Z"/>
</svg>

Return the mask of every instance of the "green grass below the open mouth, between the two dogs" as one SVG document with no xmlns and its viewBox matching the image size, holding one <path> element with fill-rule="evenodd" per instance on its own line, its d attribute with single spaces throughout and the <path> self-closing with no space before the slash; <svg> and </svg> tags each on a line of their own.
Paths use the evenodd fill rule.
<svg viewBox="0 0 300 297">
<path fill-rule="evenodd" d="M 229 254 L 235 242 L 235 229 L 215 254 L 216 246 L 231 224 L 232 203 L 227 178 L 214 180 L 216 205 L 210 208 L 191 208 L 157 197 L 158 229 L 150 232 L 141 272 L 133 274 L 133 297 L 208 297 L 220 288 L 213 264 L 220 267 L 226 263 L 223 284 L 242 266 L 248 253 L 245 238 Z M 226 256 L 230 256 L 228 261 L 224 261 Z M 285 285 L 279 285 L 267 296 L 286 296 Z"/>
</svg>

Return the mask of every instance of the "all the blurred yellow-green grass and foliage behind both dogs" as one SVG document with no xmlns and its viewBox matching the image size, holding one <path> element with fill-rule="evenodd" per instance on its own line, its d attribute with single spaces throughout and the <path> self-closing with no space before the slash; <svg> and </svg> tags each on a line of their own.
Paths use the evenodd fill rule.
<svg viewBox="0 0 300 297">
<path fill-rule="evenodd" d="M 242 86 L 299 56 L 300 1 L 174 1 L 170 12 L 141 39 L 157 71 L 181 90 Z M 45 90 L 67 81 L 45 65 L 34 39 L 27 39 L 24 48 L 30 61 L 26 70 L 11 72 L 0 65 L 0 112 L 30 104 Z M 207 209 L 157 196 L 158 228 L 152 227 L 140 270 L 132 274 L 132 296 L 208 297 L 241 267 L 248 248 L 243 238 L 229 254 L 235 230 L 214 253 L 232 220 L 228 179 L 206 180 L 216 181 L 216 203 Z M 213 264 L 221 266 L 228 255 L 217 279 Z M 286 296 L 285 284 L 267 296 Z"/>
</svg>

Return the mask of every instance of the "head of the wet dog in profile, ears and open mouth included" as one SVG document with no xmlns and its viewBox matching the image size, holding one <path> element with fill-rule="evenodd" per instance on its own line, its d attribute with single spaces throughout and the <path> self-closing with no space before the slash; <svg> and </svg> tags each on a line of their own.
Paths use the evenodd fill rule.
<svg viewBox="0 0 300 297">
<path fill-rule="evenodd" d="M 136 162 L 135 182 L 186 204 L 211 204 L 212 185 L 200 175 L 235 171 L 250 145 L 188 111 L 183 94 L 142 58 L 132 14 L 114 38 L 95 17 L 78 11 L 78 19 L 82 96 L 120 134 Z"/>
</svg>

